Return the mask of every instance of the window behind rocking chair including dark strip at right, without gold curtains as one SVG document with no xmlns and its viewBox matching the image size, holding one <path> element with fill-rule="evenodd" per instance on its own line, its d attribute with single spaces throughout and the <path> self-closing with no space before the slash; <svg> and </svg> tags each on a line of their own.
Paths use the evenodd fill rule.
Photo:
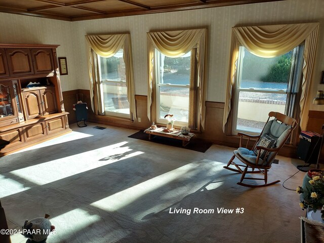
<svg viewBox="0 0 324 243">
<path fill-rule="evenodd" d="M 297 117 L 303 46 L 272 58 L 240 47 L 234 96 L 233 133 L 260 133 L 270 111 Z"/>
</svg>

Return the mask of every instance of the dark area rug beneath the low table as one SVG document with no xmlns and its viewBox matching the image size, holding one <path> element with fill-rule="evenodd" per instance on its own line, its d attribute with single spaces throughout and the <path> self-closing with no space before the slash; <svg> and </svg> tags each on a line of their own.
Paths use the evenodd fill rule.
<svg viewBox="0 0 324 243">
<path fill-rule="evenodd" d="M 134 133 L 128 137 L 140 139 L 140 140 L 144 140 L 144 141 L 149 141 L 148 134 L 144 133 L 143 130 L 141 130 L 137 133 Z M 205 153 L 207 151 L 207 149 L 209 149 L 210 146 L 212 146 L 212 144 L 213 144 L 213 143 L 207 142 L 203 139 L 199 139 L 199 138 L 195 138 L 195 137 L 191 138 L 190 143 L 185 147 L 182 147 L 182 140 L 160 137 L 160 136 L 151 136 L 150 142 L 166 144 L 166 145 L 179 147 L 179 148 L 190 149 L 190 150 L 194 150 L 194 151 L 201 152 L 201 153 Z"/>
</svg>

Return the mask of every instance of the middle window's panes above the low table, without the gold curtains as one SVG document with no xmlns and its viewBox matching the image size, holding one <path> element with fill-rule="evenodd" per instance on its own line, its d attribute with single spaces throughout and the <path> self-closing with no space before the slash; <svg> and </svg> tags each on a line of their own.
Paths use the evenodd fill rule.
<svg viewBox="0 0 324 243">
<path fill-rule="evenodd" d="M 173 114 L 175 125 L 188 125 L 191 51 L 181 57 L 167 57 L 155 49 L 156 121 L 165 124 L 164 116 Z M 193 58 L 195 59 L 195 58 Z"/>
</svg>

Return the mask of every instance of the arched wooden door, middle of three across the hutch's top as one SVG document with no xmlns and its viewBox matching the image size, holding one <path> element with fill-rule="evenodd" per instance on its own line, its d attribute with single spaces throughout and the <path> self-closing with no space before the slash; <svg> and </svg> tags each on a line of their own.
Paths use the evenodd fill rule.
<svg viewBox="0 0 324 243">
<path fill-rule="evenodd" d="M 6 56 L 11 76 L 34 73 L 29 49 L 6 49 Z"/>
</svg>

